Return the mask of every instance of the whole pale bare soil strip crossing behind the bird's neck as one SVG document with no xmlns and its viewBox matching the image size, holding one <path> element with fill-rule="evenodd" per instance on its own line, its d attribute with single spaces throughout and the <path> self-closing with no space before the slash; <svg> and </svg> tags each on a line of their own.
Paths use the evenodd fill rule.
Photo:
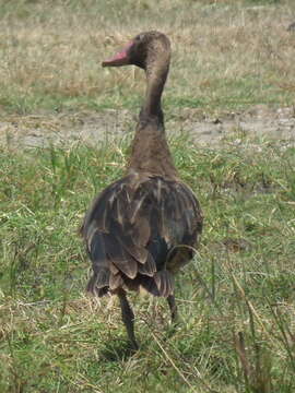
<svg viewBox="0 0 295 393">
<path fill-rule="evenodd" d="M 133 133 L 137 118 L 127 110 L 75 115 L 8 117 L 0 121 L 0 144 L 11 148 L 111 142 Z M 219 147 L 224 141 L 261 138 L 295 142 L 295 108 L 263 105 L 240 112 L 206 117 L 199 109 L 182 109 L 166 120 L 168 135 L 189 134 L 201 145 Z"/>
</svg>

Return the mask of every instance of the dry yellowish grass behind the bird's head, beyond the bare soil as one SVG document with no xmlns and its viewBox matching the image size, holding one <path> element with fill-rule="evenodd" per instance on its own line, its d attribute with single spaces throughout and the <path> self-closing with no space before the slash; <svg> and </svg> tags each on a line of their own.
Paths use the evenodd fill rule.
<svg viewBox="0 0 295 393">
<path fill-rule="evenodd" d="M 138 110 L 142 72 L 99 63 L 151 28 L 173 43 L 166 100 L 175 107 L 291 105 L 295 44 L 286 27 L 294 13 L 292 0 L 4 1 L 0 110 Z"/>
</svg>

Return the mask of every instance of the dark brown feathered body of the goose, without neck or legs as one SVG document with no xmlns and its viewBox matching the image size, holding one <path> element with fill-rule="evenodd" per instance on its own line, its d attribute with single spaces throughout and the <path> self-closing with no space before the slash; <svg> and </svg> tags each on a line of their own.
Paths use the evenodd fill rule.
<svg viewBox="0 0 295 393">
<path fill-rule="evenodd" d="M 98 296 L 141 285 L 168 296 L 175 271 L 192 257 L 202 215 L 192 191 L 161 177 L 129 175 L 107 187 L 81 228 L 93 264 L 87 289 Z"/>
</svg>

